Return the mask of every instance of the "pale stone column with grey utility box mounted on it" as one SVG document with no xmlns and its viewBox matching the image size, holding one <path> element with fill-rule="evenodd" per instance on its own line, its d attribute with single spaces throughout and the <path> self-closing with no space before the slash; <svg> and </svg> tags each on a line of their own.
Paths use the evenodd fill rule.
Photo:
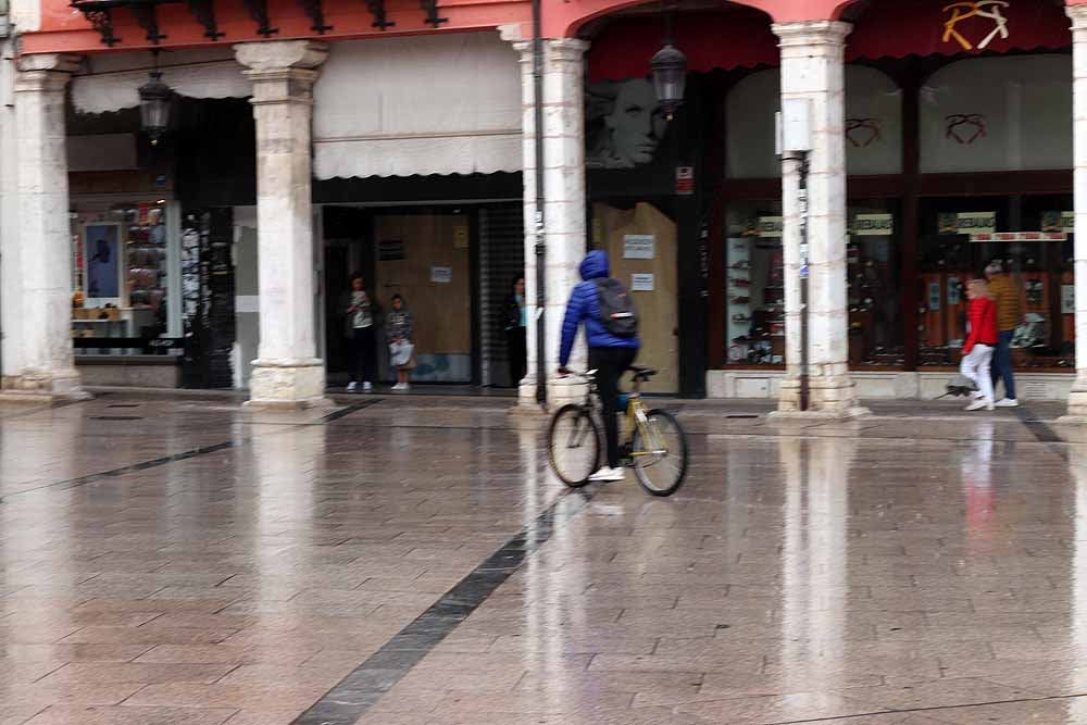
<svg viewBox="0 0 1087 725">
<path fill-rule="evenodd" d="M 844 50 L 852 26 L 827 21 L 774 25 L 782 49 L 782 99 L 807 99 L 813 149 L 808 154 L 809 412 L 845 416 L 861 411 L 849 377 L 846 297 L 846 84 Z M 778 411 L 800 410 L 800 164 L 782 168 L 785 254 L 785 351 L 788 372 Z"/>
</svg>

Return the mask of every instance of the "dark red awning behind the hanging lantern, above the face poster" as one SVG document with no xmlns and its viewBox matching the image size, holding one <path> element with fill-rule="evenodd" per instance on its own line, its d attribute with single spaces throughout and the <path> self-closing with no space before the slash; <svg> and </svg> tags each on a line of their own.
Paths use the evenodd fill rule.
<svg viewBox="0 0 1087 725">
<path fill-rule="evenodd" d="M 608 23 L 589 47 L 590 82 L 648 75 L 649 59 L 661 49 L 664 35 L 661 15 L 617 17 Z M 673 36 L 691 71 L 778 64 L 770 17 L 750 8 L 680 13 Z"/>
</svg>

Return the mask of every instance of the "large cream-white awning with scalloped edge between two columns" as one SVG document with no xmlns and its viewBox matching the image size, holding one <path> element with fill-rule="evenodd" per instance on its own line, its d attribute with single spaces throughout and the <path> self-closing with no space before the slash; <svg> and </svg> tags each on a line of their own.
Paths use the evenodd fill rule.
<svg viewBox="0 0 1087 725">
<path fill-rule="evenodd" d="M 333 43 L 314 88 L 314 176 L 521 171 L 521 92 L 497 32 Z"/>
</svg>

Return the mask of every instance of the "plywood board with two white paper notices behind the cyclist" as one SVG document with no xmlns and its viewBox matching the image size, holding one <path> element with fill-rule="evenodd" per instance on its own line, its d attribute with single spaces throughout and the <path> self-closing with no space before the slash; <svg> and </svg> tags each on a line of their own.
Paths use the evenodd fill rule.
<svg viewBox="0 0 1087 725">
<path fill-rule="evenodd" d="M 641 351 L 637 364 L 660 371 L 647 392 L 679 390 L 679 308 L 676 224 L 649 203 L 634 209 L 594 205 L 611 274 L 638 307 Z M 651 289 L 649 289 L 651 287 Z"/>
</svg>

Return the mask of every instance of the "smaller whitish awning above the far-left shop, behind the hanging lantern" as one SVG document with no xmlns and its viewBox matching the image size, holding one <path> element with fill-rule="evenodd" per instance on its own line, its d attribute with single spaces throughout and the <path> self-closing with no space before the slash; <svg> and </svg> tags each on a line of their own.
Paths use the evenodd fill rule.
<svg viewBox="0 0 1087 725">
<path fill-rule="evenodd" d="M 247 98 L 253 85 L 241 75 L 230 48 L 173 51 L 161 57 L 162 80 L 188 98 Z M 72 78 L 79 113 L 108 113 L 139 105 L 138 89 L 154 64 L 150 53 L 90 57 L 90 71 Z"/>
</svg>

